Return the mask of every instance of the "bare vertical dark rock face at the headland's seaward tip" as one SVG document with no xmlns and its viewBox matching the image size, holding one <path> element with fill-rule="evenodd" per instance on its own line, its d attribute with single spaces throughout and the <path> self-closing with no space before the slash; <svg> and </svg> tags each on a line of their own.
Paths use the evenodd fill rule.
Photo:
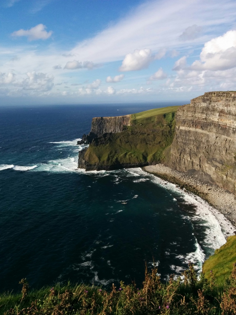
<svg viewBox="0 0 236 315">
<path fill-rule="evenodd" d="M 82 140 L 77 144 L 91 143 L 94 138 L 105 133 L 117 133 L 124 130 L 125 126 L 130 126 L 131 115 L 116 117 L 94 117 L 92 119 L 91 130 L 88 135 L 83 135 Z"/>
</svg>

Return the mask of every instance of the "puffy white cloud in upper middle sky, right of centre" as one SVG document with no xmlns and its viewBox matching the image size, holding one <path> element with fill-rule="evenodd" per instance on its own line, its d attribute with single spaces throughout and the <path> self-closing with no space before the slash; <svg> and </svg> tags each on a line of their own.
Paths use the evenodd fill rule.
<svg viewBox="0 0 236 315">
<path fill-rule="evenodd" d="M 147 68 L 154 59 L 151 55 L 151 49 L 135 49 L 133 53 L 126 54 L 120 71 L 136 71 Z"/>
</svg>

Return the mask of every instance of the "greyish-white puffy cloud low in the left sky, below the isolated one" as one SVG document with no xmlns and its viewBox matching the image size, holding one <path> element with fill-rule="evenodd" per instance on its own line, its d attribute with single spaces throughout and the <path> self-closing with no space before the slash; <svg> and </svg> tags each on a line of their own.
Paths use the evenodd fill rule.
<svg viewBox="0 0 236 315">
<path fill-rule="evenodd" d="M 27 78 L 19 84 L 24 90 L 41 90 L 46 92 L 53 88 L 54 77 L 52 74 L 27 72 L 26 75 Z"/>
</svg>

